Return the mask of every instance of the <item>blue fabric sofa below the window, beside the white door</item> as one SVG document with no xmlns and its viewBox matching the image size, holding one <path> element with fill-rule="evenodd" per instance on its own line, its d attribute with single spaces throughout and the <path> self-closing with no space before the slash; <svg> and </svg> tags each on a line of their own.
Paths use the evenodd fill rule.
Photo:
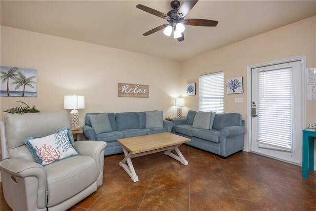
<svg viewBox="0 0 316 211">
<path fill-rule="evenodd" d="M 243 150 L 245 122 L 237 113 L 215 114 L 212 129 L 193 127 L 196 111 L 185 119 L 173 119 L 173 133 L 191 139 L 186 144 L 220 155 L 224 158 Z"/>
</svg>

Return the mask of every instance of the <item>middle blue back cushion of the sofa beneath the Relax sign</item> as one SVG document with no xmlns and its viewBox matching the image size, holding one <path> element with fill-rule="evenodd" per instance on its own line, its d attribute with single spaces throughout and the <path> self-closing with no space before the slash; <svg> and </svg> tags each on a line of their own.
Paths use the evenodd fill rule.
<svg viewBox="0 0 316 211">
<path fill-rule="evenodd" d="M 138 129 L 139 120 L 137 112 L 116 113 L 117 130 Z"/>
</svg>

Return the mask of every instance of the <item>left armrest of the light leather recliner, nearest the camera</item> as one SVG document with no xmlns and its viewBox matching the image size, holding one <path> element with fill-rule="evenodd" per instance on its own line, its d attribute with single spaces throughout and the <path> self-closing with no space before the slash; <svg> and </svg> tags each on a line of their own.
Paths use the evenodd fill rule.
<svg viewBox="0 0 316 211">
<path fill-rule="evenodd" d="M 1 161 L 1 177 L 8 205 L 14 209 L 37 210 L 46 208 L 46 170 L 38 163 L 19 158 Z M 19 197 L 25 195 L 26 202 Z"/>
</svg>

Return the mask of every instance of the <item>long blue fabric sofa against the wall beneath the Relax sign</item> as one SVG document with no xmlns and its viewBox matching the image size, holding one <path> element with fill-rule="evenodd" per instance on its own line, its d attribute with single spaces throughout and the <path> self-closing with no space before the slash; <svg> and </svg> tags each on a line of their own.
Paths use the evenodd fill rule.
<svg viewBox="0 0 316 211">
<path fill-rule="evenodd" d="M 96 114 L 108 114 L 112 131 L 96 134 L 91 125 L 89 116 Z M 145 112 L 123 113 L 87 113 L 84 119 L 83 134 L 88 140 L 106 141 L 107 147 L 104 155 L 122 153 L 123 149 L 117 142 L 119 138 L 128 138 L 141 135 L 149 135 L 160 132 L 171 132 L 173 123 L 163 120 L 163 127 L 146 128 Z"/>
</svg>

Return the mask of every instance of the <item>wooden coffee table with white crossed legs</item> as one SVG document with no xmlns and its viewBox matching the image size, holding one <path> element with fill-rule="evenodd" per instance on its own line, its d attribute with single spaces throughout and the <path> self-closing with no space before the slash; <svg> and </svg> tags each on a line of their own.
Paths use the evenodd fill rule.
<svg viewBox="0 0 316 211">
<path fill-rule="evenodd" d="M 189 138 L 170 132 L 118 139 L 118 143 L 122 145 L 125 154 L 125 158 L 119 162 L 119 166 L 126 171 L 134 182 L 137 182 L 138 176 L 136 175 L 131 158 L 165 151 L 165 155 L 180 161 L 183 165 L 188 165 L 188 161 L 183 157 L 178 147 L 190 141 L 191 139 Z M 171 153 L 172 150 L 175 150 L 178 155 Z M 126 162 L 127 165 L 125 164 Z"/>
</svg>

